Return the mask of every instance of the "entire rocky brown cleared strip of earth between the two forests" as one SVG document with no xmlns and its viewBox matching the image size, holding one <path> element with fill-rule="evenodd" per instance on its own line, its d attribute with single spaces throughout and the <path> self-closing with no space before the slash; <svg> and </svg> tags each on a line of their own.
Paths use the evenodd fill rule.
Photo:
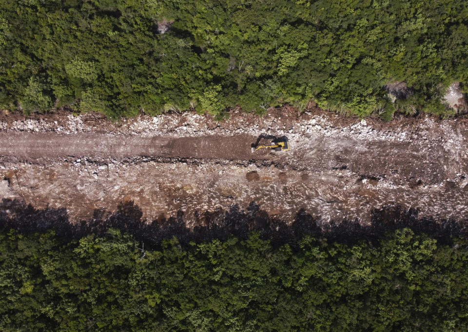
<svg viewBox="0 0 468 332">
<path fill-rule="evenodd" d="M 0 119 L 0 201 L 66 208 L 71 221 L 136 203 L 148 219 L 180 211 L 188 227 L 213 211 L 252 204 L 286 223 L 365 225 L 385 205 L 460 220 L 468 212 L 463 118 L 360 121 L 320 110 L 193 112 L 108 121 L 99 114 Z M 287 136 L 288 152 L 251 146 Z"/>
</svg>

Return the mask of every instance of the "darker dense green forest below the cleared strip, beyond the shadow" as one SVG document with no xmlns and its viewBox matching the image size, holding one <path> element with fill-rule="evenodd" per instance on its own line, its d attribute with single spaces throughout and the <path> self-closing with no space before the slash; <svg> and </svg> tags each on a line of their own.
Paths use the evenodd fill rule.
<svg viewBox="0 0 468 332">
<path fill-rule="evenodd" d="M 0 233 L 2 331 L 467 331 L 468 242 Z"/>
</svg>

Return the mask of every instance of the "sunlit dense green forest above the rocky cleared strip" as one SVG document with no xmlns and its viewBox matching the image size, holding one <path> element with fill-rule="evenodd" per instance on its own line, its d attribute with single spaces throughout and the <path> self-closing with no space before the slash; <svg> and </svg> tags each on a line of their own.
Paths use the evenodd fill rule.
<svg viewBox="0 0 468 332">
<path fill-rule="evenodd" d="M 360 116 L 448 115 L 441 95 L 468 82 L 465 0 L 0 3 L 0 105 L 26 113 L 222 117 L 314 100 Z M 395 81 L 411 93 L 393 103 Z"/>
</svg>

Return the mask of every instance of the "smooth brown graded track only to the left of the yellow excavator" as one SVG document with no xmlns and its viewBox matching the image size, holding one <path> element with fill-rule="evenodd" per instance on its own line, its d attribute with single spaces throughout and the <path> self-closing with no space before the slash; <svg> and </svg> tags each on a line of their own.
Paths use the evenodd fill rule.
<svg viewBox="0 0 468 332">
<path fill-rule="evenodd" d="M 57 159 L 66 156 L 127 158 L 138 156 L 249 160 L 265 159 L 252 155 L 249 135 L 204 137 L 136 137 L 105 134 L 10 133 L 0 134 L 0 155 L 20 160 Z"/>
</svg>

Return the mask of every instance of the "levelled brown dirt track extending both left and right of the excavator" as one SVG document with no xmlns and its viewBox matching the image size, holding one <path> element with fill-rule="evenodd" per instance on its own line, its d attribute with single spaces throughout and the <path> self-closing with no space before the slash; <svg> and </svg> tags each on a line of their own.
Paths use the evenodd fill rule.
<svg viewBox="0 0 468 332">
<path fill-rule="evenodd" d="M 66 157 L 117 159 L 134 157 L 193 158 L 219 161 L 270 160 L 290 171 L 347 169 L 358 176 L 404 184 L 421 181 L 436 184 L 453 177 L 447 164 L 451 151 L 439 143 L 361 141 L 346 136 L 333 138 L 304 135 L 300 144 L 291 142 L 288 152 L 271 153 L 250 147 L 251 135 L 197 137 L 139 137 L 128 135 L 56 133 L 0 134 L 0 155 L 20 161 L 62 160 Z M 268 141 L 262 141 L 263 144 Z M 467 158 L 455 161 L 458 173 L 468 173 Z M 417 161 L 417 164 L 415 162 Z M 412 165 L 414 164 L 414 165 Z"/>
</svg>

